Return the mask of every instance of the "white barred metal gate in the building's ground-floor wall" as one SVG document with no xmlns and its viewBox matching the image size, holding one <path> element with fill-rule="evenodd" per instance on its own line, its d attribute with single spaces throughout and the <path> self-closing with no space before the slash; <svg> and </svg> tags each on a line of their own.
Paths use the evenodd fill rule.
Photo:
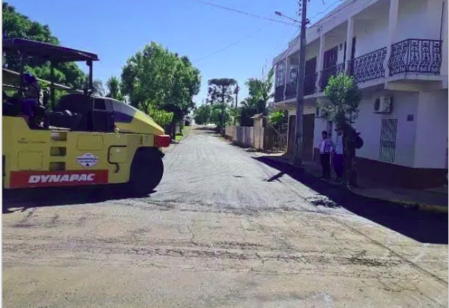
<svg viewBox="0 0 449 308">
<path fill-rule="evenodd" d="M 382 119 L 379 161 L 395 163 L 397 119 Z"/>
</svg>

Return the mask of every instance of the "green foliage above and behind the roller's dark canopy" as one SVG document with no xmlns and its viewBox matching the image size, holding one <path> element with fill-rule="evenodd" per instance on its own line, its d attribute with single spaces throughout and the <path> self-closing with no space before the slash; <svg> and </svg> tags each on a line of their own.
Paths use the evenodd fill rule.
<svg viewBox="0 0 449 308">
<path fill-rule="evenodd" d="M 52 35 L 48 25 L 31 21 L 7 2 L 2 3 L 2 27 L 3 36 L 6 37 L 31 39 L 59 45 L 59 40 Z M 9 70 L 19 71 L 20 58 L 17 52 L 5 52 L 5 58 L 6 67 Z M 50 64 L 47 61 L 28 57 L 27 64 L 26 71 L 39 76 L 41 79 L 50 79 Z M 86 83 L 86 74 L 79 69 L 76 63 L 59 63 L 55 66 L 54 75 L 54 82 L 72 88 L 81 89 Z"/>
</svg>

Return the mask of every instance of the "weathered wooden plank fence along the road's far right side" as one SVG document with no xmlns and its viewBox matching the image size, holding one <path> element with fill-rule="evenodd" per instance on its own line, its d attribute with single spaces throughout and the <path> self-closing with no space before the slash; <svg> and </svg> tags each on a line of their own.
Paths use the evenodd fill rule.
<svg viewBox="0 0 449 308">
<path fill-rule="evenodd" d="M 225 134 L 230 141 L 239 145 L 266 150 L 263 143 L 264 131 L 263 127 L 226 126 Z"/>
</svg>

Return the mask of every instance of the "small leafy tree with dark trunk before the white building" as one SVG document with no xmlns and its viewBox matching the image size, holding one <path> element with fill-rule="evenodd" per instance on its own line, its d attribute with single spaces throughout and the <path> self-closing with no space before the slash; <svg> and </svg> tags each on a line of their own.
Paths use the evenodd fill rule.
<svg viewBox="0 0 449 308">
<path fill-rule="evenodd" d="M 335 123 L 337 129 L 343 131 L 343 183 L 346 185 L 357 185 L 355 173 L 355 151 L 363 145 L 352 124 L 355 123 L 359 114 L 359 103 L 361 91 L 352 76 L 343 72 L 337 76 L 331 76 L 324 94 L 330 103 L 319 103 L 319 108 L 329 114 L 329 118 Z M 362 143 L 360 145 L 360 142 Z"/>
</svg>

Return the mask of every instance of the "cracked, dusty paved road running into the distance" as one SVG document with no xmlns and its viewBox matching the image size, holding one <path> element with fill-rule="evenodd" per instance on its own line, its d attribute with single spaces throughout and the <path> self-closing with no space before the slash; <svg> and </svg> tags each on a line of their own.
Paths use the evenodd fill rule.
<svg viewBox="0 0 449 308">
<path fill-rule="evenodd" d="M 447 216 L 191 130 L 146 198 L 8 196 L 4 307 L 448 307 Z"/>
</svg>

